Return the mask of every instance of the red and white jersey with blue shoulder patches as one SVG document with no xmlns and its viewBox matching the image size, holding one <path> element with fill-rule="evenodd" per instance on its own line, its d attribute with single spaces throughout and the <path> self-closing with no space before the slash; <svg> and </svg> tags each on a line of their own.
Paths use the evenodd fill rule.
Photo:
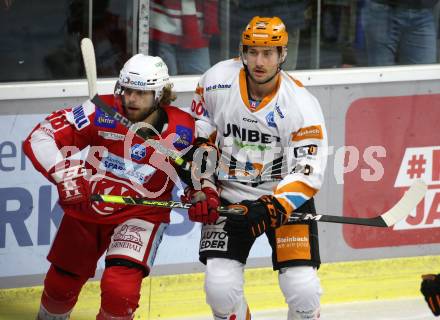
<svg viewBox="0 0 440 320">
<path fill-rule="evenodd" d="M 114 105 L 112 96 L 102 98 Z M 176 107 L 163 109 L 168 124 L 154 139 L 174 150 L 190 146 L 194 120 Z M 53 112 L 23 143 L 24 152 L 35 168 L 52 182 L 49 171 L 65 157 L 65 152 L 78 154 L 87 147 L 85 167 L 91 193 L 170 200 L 175 182 L 180 183 L 176 170 L 164 155 L 147 146 L 142 138 L 107 116 L 90 100 Z M 133 217 L 169 222 L 170 213 L 166 208 L 99 202 L 92 202 L 88 212 L 78 212 L 72 206 L 63 206 L 63 209 L 65 214 L 96 223 L 120 223 Z"/>
</svg>

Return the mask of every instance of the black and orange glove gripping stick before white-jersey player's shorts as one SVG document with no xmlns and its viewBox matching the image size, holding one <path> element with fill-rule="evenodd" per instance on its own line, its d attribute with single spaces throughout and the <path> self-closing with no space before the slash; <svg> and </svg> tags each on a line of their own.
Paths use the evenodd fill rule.
<svg viewBox="0 0 440 320">
<path fill-rule="evenodd" d="M 230 234 L 250 233 L 262 235 L 268 228 L 278 228 L 287 222 L 289 215 L 274 196 L 262 196 L 258 200 L 244 200 L 228 206 L 243 214 L 229 214 L 224 229 Z"/>
</svg>

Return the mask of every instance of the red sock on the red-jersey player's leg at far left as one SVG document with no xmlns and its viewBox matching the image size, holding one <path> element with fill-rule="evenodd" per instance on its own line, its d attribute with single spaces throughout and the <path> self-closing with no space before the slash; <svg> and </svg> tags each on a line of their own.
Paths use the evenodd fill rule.
<svg viewBox="0 0 440 320">
<path fill-rule="evenodd" d="M 53 265 L 44 279 L 41 304 L 51 314 L 65 314 L 73 309 L 87 277 L 64 272 Z"/>
</svg>

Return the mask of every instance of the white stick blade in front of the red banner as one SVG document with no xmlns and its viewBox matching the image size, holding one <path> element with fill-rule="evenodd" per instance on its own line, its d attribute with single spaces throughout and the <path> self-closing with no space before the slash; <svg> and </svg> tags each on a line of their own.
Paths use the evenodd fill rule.
<svg viewBox="0 0 440 320">
<path fill-rule="evenodd" d="M 406 218 L 413 211 L 420 201 L 425 197 L 428 187 L 422 180 L 416 180 L 405 192 L 405 195 L 394 207 L 381 215 L 387 227 L 395 225 Z"/>
</svg>

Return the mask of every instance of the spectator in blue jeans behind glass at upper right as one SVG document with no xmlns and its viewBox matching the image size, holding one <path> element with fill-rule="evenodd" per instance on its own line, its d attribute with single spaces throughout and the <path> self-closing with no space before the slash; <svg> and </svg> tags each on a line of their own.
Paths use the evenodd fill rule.
<svg viewBox="0 0 440 320">
<path fill-rule="evenodd" d="M 369 66 L 435 63 L 438 0 L 367 0 L 363 23 Z"/>
</svg>

